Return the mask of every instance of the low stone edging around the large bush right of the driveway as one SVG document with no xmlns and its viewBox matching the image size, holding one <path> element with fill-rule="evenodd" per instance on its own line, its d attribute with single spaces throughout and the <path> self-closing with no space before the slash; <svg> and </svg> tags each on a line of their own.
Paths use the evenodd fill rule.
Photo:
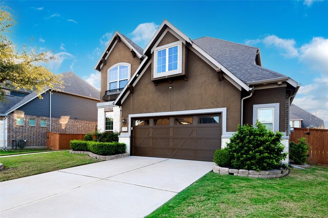
<svg viewBox="0 0 328 218">
<path fill-rule="evenodd" d="M 273 179 L 287 176 L 290 173 L 289 169 L 272 169 L 271 171 L 248 171 L 246 169 L 233 169 L 220 167 L 217 164 L 213 167 L 213 172 L 223 175 L 242 176 L 250 178 Z"/>
</svg>

